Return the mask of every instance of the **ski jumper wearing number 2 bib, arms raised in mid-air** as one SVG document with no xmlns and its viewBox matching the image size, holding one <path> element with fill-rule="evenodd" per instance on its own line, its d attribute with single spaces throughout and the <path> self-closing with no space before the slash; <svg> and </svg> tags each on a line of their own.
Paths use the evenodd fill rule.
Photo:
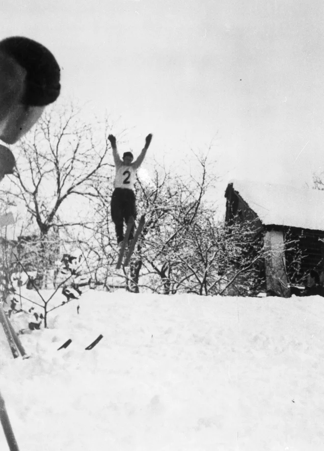
<svg viewBox="0 0 324 451">
<path fill-rule="evenodd" d="M 121 159 L 117 152 L 116 138 L 109 134 L 108 139 L 112 148 L 112 155 L 116 167 L 116 176 L 114 181 L 114 190 L 111 196 L 111 219 L 115 224 L 117 243 L 121 243 L 124 239 L 124 222 L 128 222 L 133 216 L 136 219 L 136 199 L 135 199 L 135 178 L 136 171 L 142 164 L 146 151 L 152 140 L 152 134 L 148 134 L 145 139 L 145 146 L 141 153 L 133 162 L 132 152 L 125 152 Z M 129 239 L 134 237 L 134 225 L 131 230 Z"/>
</svg>

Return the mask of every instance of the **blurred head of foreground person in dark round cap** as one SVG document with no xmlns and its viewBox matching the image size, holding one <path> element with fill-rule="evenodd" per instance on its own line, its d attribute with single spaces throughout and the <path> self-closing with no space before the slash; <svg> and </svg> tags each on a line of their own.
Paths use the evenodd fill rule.
<svg viewBox="0 0 324 451">
<path fill-rule="evenodd" d="M 14 36 L 0 41 L 0 139 L 14 144 L 60 93 L 60 68 L 42 44 Z"/>
</svg>

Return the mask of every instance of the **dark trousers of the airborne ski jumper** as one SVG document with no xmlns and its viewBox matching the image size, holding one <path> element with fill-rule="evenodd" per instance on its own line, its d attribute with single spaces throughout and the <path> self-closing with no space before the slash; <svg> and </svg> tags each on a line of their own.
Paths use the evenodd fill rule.
<svg viewBox="0 0 324 451">
<path fill-rule="evenodd" d="M 136 219 L 136 201 L 132 189 L 115 188 L 111 196 L 111 219 L 115 224 L 117 242 L 124 239 L 124 221 L 127 224 L 130 216 Z M 134 226 L 132 227 L 130 238 L 134 237 Z"/>
</svg>

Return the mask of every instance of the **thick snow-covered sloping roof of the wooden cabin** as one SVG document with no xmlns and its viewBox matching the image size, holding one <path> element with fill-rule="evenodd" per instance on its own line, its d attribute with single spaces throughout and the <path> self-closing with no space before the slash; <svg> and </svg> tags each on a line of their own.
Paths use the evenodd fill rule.
<svg viewBox="0 0 324 451">
<path fill-rule="evenodd" d="M 324 191 L 243 180 L 230 183 L 263 224 L 324 231 Z"/>
</svg>

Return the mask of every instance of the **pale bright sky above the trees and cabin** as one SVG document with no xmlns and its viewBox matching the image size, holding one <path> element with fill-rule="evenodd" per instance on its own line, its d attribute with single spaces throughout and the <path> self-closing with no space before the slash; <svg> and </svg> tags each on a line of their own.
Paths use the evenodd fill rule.
<svg viewBox="0 0 324 451">
<path fill-rule="evenodd" d="M 320 0 L 16 0 L 0 29 L 49 47 L 62 94 L 121 116 L 135 153 L 147 133 L 175 165 L 213 143 L 225 189 L 324 168 L 323 20 Z"/>
</svg>

